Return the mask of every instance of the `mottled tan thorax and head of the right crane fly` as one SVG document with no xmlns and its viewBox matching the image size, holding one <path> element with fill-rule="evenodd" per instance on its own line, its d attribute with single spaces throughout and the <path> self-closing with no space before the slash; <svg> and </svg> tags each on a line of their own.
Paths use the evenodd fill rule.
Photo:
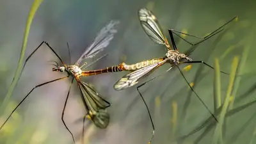
<svg viewBox="0 0 256 144">
<path fill-rule="evenodd" d="M 186 56 L 186 54 L 181 54 L 180 52 L 175 50 L 169 50 L 166 53 L 166 57 L 168 60 L 170 60 L 170 63 L 174 64 L 179 64 L 180 60 L 192 61 L 191 58 L 188 58 L 188 56 Z"/>
</svg>

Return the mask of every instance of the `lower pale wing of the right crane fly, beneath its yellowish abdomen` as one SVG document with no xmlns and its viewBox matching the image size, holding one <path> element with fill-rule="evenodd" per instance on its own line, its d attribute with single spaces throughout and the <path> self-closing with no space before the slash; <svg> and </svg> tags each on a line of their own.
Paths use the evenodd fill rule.
<svg viewBox="0 0 256 144">
<path fill-rule="evenodd" d="M 124 90 L 125 88 L 129 88 L 131 86 L 134 86 L 137 84 L 140 79 L 143 79 L 143 77 L 148 76 L 151 72 L 156 70 L 157 67 L 160 67 L 166 62 L 166 60 L 161 61 L 159 63 L 154 63 L 152 65 L 148 65 L 147 67 L 140 68 L 138 70 L 135 70 L 134 72 L 131 72 L 124 77 L 122 77 L 119 81 L 117 81 L 114 84 L 115 90 Z"/>
</svg>

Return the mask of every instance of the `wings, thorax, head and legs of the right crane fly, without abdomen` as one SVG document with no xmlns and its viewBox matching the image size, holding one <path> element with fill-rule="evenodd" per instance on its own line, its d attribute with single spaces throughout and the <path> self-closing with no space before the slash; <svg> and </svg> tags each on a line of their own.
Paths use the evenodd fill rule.
<svg viewBox="0 0 256 144">
<path fill-rule="evenodd" d="M 213 67 L 211 67 L 211 65 L 208 65 L 207 63 L 205 63 L 204 61 L 193 61 L 191 58 L 189 58 L 188 56 L 191 54 L 191 52 L 193 52 L 195 49 L 192 49 L 190 52 L 188 52 L 188 54 L 182 54 L 178 51 L 177 46 L 175 45 L 175 41 L 173 38 L 173 34 L 174 35 L 178 35 L 178 33 L 181 33 L 183 35 L 188 35 L 188 36 L 193 36 L 195 38 L 200 38 L 198 36 L 194 36 L 194 35 L 189 35 L 187 33 L 182 33 L 180 31 L 176 31 L 174 29 L 168 29 L 169 34 L 170 34 L 170 38 L 172 41 L 172 46 L 168 43 L 168 40 L 166 38 L 166 36 L 164 36 L 163 31 L 161 29 L 161 26 L 159 25 L 159 22 L 156 18 L 156 16 L 150 11 L 147 10 L 146 8 L 141 8 L 140 10 L 138 10 L 138 17 L 140 19 L 140 23 L 141 26 L 143 28 L 143 30 L 145 31 L 145 33 L 148 35 L 148 37 L 153 41 L 156 42 L 157 44 L 161 44 L 161 45 L 165 45 L 165 47 L 167 48 L 167 52 L 166 55 L 163 58 L 159 58 L 157 59 L 158 61 L 156 61 L 155 63 L 150 63 L 148 64 L 150 61 L 145 61 L 145 67 L 143 68 L 138 68 L 137 70 L 134 70 L 133 72 L 125 75 L 124 77 L 122 77 L 119 81 L 117 81 L 114 84 L 114 89 L 115 90 L 124 90 L 126 88 L 129 88 L 131 86 L 136 85 L 141 79 L 147 77 L 149 74 L 151 74 L 152 72 L 154 72 L 154 70 L 156 70 L 158 67 L 160 67 L 161 65 L 164 65 L 165 63 L 170 63 L 171 67 L 167 70 L 167 72 L 173 68 L 173 67 L 177 67 L 180 71 L 180 74 L 182 75 L 182 77 L 184 77 L 186 83 L 188 83 L 189 88 L 195 93 L 196 97 L 198 97 L 198 99 L 200 100 L 200 102 L 202 102 L 202 104 L 204 105 L 204 107 L 207 109 L 207 111 L 209 111 L 209 113 L 211 113 L 212 117 L 216 120 L 216 122 L 218 122 L 217 118 L 213 115 L 213 113 L 210 111 L 210 109 L 205 105 L 205 103 L 203 102 L 203 100 L 197 95 L 197 93 L 193 90 L 193 88 L 191 87 L 191 85 L 189 84 L 188 80 L 186 79 L 186 77 L 184 76 L 184 74 L 182 73 L 182 71 L 180 70 L 180 68 L 178 67 L 178 65 L 182 64 L 182 63 L 203 63 L 204 65 L 207 65 L 207 67 L 210 67 L 213 69 Z M 228 22 L 226 22 L 225 24 L 223 24 L 222 26 L 220 26 L 220 28 L 212 31 L 209 35 L 204 36 L 200 39 L 199 42 L 197 42 L 196 44 L 192 44 L 191 42 L 188 42 L 188 40 L 185 40 L 184 38 L 182 38 L 181 36 L 179 36 L 180 38 L 182 38 L 182 40 L 185 40 L 185 42 L 188 42 L 188 44 L 191 45 L 198 45 L 201 42 L 204 42 L 205 40 L 211 38 L 212 36 L 220 33 L 221 31 L 224 30 L 224 26 L 227 25 L 229 22 L 232 22 L 232 20 L 237 19 L 237 17 L 234 17 L 233 19 L 229 20 Z M 147 65 L 148 64 L 148 65 Z M 221 71 L 222 72 L 222 71 Z M 226 72 L 222 72 L 224 74 L 227 74 Z M 160 76 L 160 75 L 159 75 Z M 158 77 L 158 76 L 157 76 Z M 152 81 L 153 79 L 155 79 L 156 77 L 150 79 L 149 81 Z M 143 100 L 143 102 L 146 104 L 145 100 L 143 99 L 141 92 L 139 90 L 139 88 L 141 86 L 143 86 L 144 84 L 148 83 L 149 81 L 146 81 L 143 84 L 140 84 L 139 86 L 137 86 L 137 91 L 140 94 L 141 99 Z M 146 104 L 147 106 L 147 104 Z M 148 143 L 150 143 L 154 137 L 154 123 L 152 121 L 152 117 L 150 115 L 150 111 L 148 109 L 147 106 L 147 111 L 148 111 L 148 115 L 150 116 L 150 121 L 152 124 L 152 138 L 150 139 L 150 141 Z"/>
</svg>

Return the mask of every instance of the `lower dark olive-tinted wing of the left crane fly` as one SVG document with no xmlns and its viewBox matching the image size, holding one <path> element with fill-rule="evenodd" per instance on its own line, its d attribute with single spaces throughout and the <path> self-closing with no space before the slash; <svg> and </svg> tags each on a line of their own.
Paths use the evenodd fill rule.
<svg viewBox="0 0 256 144">
<path fill-rule="evenodd" d="M 110 106 L 109 102 L 102 99 L 90 84 L 84 82 L 77 84 L 88 115 L 97 127 L 105 129 L 109 124 L 109 113 L 106 111 Z"/>
</svg>

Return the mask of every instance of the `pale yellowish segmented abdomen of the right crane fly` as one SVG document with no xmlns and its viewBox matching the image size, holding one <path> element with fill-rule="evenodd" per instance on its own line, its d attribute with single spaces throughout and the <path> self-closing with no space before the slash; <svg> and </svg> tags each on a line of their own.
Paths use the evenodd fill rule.
<svg viewBox="0 0 256 144">
<path fill-rule="evenodd" d="M 133 65 L 126 65 L 125 63 L 123 63 L 124 65 L 122 67 L 124 67 L 124 69 L 127 71 L 134 71 L 134 70 L 138 70 L 140 68 L 146 67 L 148 65 L 152 65 L 154 63 L 159 63 L 163 60 L 164 60 L 164 58 L 154 58 L 152 60 L 141 61 L 141 62 L 135 63 Z"/>
</svg>

